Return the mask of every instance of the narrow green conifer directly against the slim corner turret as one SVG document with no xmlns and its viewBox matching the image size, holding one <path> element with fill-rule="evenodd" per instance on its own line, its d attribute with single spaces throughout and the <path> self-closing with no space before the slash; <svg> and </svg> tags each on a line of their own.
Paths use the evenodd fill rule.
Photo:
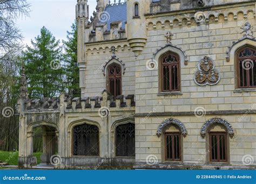
<svg viewBox="0 0 256 184">
<path fill-rule="evenodd" d="M 80 96 L 79 88 L 79 68 L 77 65 L 77 23 L 72 24 L 72 31 L 67 31 L 68 41 L 64 41 L 65 54 L 65 75 L 66 75 L 66 88 L 70 96 Z"/>
</svg>

